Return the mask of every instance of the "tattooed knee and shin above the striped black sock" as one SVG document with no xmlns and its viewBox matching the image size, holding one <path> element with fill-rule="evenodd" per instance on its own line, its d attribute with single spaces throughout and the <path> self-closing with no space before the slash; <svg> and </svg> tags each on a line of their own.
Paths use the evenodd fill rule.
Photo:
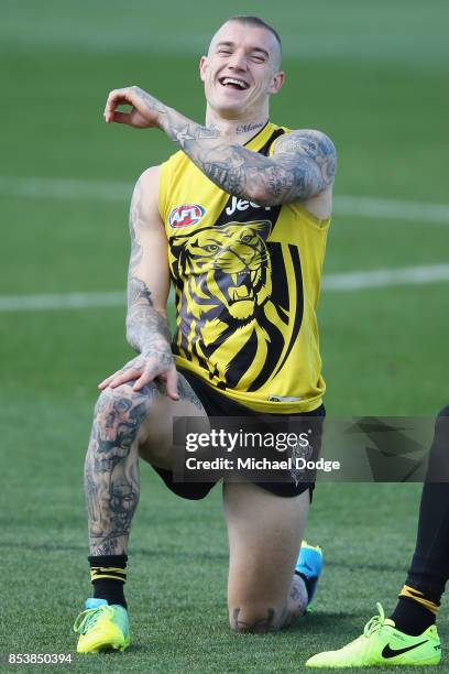
<svg viewBox="0 0 449 674">
<path fill-rule="evenodd" d="M 106 389 L 96 405 L 85 463 L 90 553 L 127 552 L 131 520 L 139 502 L 138 434 L 155 384 L 132 391 Z"/>
</svg>

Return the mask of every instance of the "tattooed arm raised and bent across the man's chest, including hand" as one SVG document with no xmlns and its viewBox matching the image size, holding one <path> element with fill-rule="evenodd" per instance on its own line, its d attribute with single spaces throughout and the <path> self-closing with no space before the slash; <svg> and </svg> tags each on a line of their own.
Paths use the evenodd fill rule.
<svg viewBox="0 0 449 674">
<path fill-rule="evenodd" d="M 131 112 L 117 112 L 122 104 L 131 105 Z M 267 157 L 223 138 L 217 129 L 197 124 L 139 87 L 111 91 L 105 119 L 162 129 L 216 185 L 261 206 L 308 200 L 331 191 L 337 153 L 320 131 L 282 137 Z"/>
</svg>

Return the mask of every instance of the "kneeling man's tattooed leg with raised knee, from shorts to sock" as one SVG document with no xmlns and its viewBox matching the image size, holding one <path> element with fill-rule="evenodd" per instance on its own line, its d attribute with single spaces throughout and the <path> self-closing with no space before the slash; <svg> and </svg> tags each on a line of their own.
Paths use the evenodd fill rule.
<svg viewBox="0 0 449 674">
<path fill-rule="evenodd" d="M 132 383 L 105 389 L 95 409 L 85 464 L 92 555 L 127 552 L 140 493 L 139 457 L 169 469 L 173 417 L 206 417 L 200 401 L 180 373 L 177 402 L 166 396 L 161 382 L 140 391 L 133 391 Z"/>
</svg>

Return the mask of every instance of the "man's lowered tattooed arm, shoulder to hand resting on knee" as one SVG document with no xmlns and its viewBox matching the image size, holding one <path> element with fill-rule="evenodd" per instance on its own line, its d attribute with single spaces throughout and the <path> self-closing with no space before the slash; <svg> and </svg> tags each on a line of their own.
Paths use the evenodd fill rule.
<svg viewBox="0 0 449 674">
<path fill-rule="evenodd" d="M 128 273 L 127 338 L 138 358 L 100 383 L 116 388 L 136 380 L 141 390 L 158 378 L 178 400 L 166 304 L 169 290 L 167 239 L 157 211 L 158 166 L 139 178 L 130 210 L 131 257 Z"/>
</svg>

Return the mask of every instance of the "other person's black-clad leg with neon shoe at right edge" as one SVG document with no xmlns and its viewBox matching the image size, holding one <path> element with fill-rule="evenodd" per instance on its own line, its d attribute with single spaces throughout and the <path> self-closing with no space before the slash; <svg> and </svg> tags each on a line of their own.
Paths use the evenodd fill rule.
<svg viewBox="0 0 449 674">
<path fill-rule="evenodd" d="M 391 618 L 370 621 L 363 637 L 338 651 L 314 655 L 311 667 L 438 664 L 441 644 L 435 626 L 449 579 L 449 406 L 435 424 L 427 481 L 423 487 L 415 553 Z M 431 481 L 431 480 L 441 481 Z M 368 626 L 366 626 L 368 627 Z"/>
</svg>

